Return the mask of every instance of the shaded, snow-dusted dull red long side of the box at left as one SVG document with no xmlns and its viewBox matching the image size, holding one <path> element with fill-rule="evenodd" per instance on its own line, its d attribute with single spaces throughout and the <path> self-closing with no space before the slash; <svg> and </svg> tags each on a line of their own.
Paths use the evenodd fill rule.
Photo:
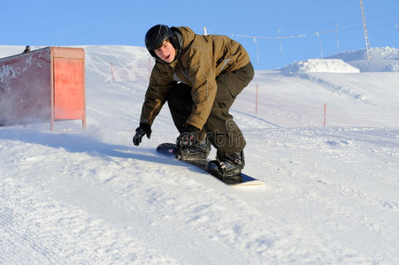
<svg viewBox="0 0 399 265">
<path fill-rule="evenodd" d="M 50 120 L 50 49 L 0 59 L 0 125 Z"/>
</svg>

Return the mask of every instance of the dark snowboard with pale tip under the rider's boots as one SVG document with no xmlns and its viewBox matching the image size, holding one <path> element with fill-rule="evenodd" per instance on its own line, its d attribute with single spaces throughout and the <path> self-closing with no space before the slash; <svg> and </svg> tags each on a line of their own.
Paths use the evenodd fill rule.
<svg viewBox="0 0 399 265">
<path fill-rule="evenodd" d="M 162 155 L 171 156 L 171 157 L 173 157 L 173 159 L 178 160 L 173 153 L 173 148 L 175 148 L 175 147 L 176 147 L 176 145 L 173 143 L 163 143 L 157 147 L 157 153 L 162 154 Z M 210 162 L 209 159 L 198 159 L 198 160 L 192 160 L 192 161 L 179 159 L 179 161 L 181 161 L 182 163 L 191 164 L 191 165 L 195 166 L 196 168 L 199 168 L 199 169 L 205 171 L 206 173 L 211 175 L 213 178 L 216 178 L 219 181 L 223 182 L 220 178 L 213 176 L 210 172 L 207 171 L 207 165 Z M 240 182 L 240 183 L 235 183 L 235 184 L 227 184 L 225 182 L 223 182 L 223 183 L 225 183 L 227 186 L 264 186 L 265 185 L 265 182 L 263 182 L 257 178 L 252 178 L 244 173 L 242 173 L 241 175 L 242 175 L 242 182 Z"/>
</svg>

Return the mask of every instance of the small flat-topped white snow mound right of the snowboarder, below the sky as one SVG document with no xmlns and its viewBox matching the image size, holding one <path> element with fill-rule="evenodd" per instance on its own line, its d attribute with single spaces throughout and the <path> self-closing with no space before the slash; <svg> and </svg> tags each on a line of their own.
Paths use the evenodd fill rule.
<svg viewBox="0 0 399 265">
<path fill-rule="evenodd" d="M 356 67 L 341 59 L 308 59 L 294 62 L 281 69 L 283 73 L 293 72 L 360 72 Z"/>
</svg>

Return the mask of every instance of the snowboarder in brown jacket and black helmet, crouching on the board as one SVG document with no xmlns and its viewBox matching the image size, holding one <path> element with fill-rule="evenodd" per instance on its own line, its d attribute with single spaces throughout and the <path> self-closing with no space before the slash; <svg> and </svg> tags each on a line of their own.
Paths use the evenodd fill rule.
<svg viewBox="0 0 399 265">
<path fill-rule="evenodd" d="M 142 105 L 134 145 L 146 135 L 165 102 L 180 135 L 176 155 L 204 159 L 217 149 L 208 170 L 229 181 L 242 181 L 245 140 L 228 112 L 254 76 L 242 45 L 223 35 L 199 35 L 188 27 L 151 27 L 145 45 L 156 64 Z"/>
</svg>

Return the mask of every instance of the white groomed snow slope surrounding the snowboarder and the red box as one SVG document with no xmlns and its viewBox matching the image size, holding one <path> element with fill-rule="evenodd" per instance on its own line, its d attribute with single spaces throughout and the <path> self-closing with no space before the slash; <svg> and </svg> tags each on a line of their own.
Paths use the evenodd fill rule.
<svg viewBox="0 0 399 265">
<path fill-rule="evenodd" d="M 0 264 L 399 263 L 397 72 L 257 71 L 231 112 L 267 186 L 234 189 L 157 155 L 167 107 L 132 145 L 145 49 L 83 48 L 86 131 L 0 127 Z"/>
</svg>

